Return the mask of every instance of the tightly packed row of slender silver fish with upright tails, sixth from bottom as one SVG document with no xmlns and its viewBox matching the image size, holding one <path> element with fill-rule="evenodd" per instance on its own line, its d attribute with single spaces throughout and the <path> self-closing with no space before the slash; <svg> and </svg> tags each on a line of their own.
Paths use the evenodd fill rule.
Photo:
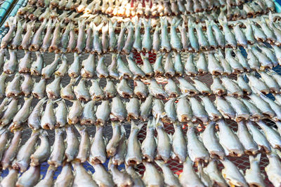
<svg viewBox="0 0 281 187">
<path fill-rule="evenodd" d="M 37 29 L 34 28 L 34 21 L 22 23 L 14 18 L 9 24 L 9 31 L 1 40 L 1 48 L 23 49 L 41 52 L 87 52 L 107 53 L 118 52 L 129 54 L 131 50 L 138 52 L 159 52 L 159 51 L 200 51 L 214 48 L 237 48 L 247 46 L 257 41 L 273 43 L 277 46 L 281 43 L 280 25 L 273 22 L 269 17 L 252 22 L 244 22 L 246 29 L 237 24 L 233 29 L 228 26 L 226 20 L 219 20 L 223 29 L 220 29 L 215 22 L 207 22 L 207 30 L 204 32 L 202 24 L 188 21 L 188 31 L 185 22 L 181 26 L 181 19 L 174 18 L 171 22 L 171 29 L 168 32 L 166 18 L 160 18 L 161 26 L 155 27 L 151 34 L 150 20 L 138 20 L 133 27 L 132 22 L 122 22 L 119 34 L 115 29 L 117 22 L 111 21 L 104 25 L 96 26 L 93 22 L 86 24 L 85 20 L 79 20 L 78 28 L 72 22 L 63 25 L 57 20 L 44 20 Z M 144 33 L 141 34 L 141 27 L 144 25 Z M 24 34 L 24 29 L 26 31 Z M 64 32 L 63 32 L 63 28 Z M 46 29 L 46 32 L 44 32 Z M 78 30 L 78 34 L 75 30 Z M 102 34 L 99 30 L 102 29 Z M 180 33 L 177 32 L 179 29 Z M 126 34 L 127 32 L 127 34 Z M 153 35 L 153 36 L 151 36 Z M 125 37 L 126 36 L 126 37 Z"/>
</svg>

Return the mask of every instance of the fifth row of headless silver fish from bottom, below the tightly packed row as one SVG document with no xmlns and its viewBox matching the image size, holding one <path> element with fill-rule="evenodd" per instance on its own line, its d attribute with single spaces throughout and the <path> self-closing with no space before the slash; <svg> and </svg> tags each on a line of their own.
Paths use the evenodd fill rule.
<svg viewBox="0 0 281 187">
<path fill-rule="evenodd" d="M 152 76 L 202 76 L 211 74 L 213 76 L 243 74 L 247 71 L 263 71 L 272 69 L 281 64 L 281 48 L 273 45 L 272 48 L 263 44 L 249 46 L 247 53 L 239 48 L 233 50 L 226 48 L 209 53 L 159 53 L 152 64 L 151 57 L 141 54 L 142 64 L 136 60 L 133 53 L 123 55 L 112 53 L 110 55 L 89 54 L 86 59 L 81 60 L 81 54 L 74 53 L 73 62 L 70 64 L 70 55 L 55 54 L 53 62 L 47 64 L 44 61 L 44 53 L 25 50 L 25 55 L 18 59 L 18 50 L 2 49 L 0 51 L 0 67 L 3 66 L 5 74 L 31 74 L 51 78 L 56 76 L 70 76 L 77 78 L 114 78 L 135 79 L 152 78 Z M 247 54 L 247 57 L 242 55 Z M 68 56 L 68 57 L 66 57 Z M 107 60 L 106 60 L 107 59 Z M 111 62 L 110 62 L 111 61 Z M 110 62 L 107 64 L 107 62 Z"/>
</svg>

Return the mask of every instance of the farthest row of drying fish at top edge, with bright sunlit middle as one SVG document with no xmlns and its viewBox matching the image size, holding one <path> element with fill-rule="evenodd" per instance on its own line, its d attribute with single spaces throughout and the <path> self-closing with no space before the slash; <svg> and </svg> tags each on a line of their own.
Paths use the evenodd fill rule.
<svg viewBox="0 0 281 187">
<path fill-rule="evenodd" d="M 48 0 L 34 1 L 30 0 L 29 4 L 39 7 L 58 8 L 66 11 L 75 10 L 77 13 L 105 13 L 107 15 L 117 15 L 120 17 L 131 16 L 163 16 L 163 15 L 181 15 L 191 14 L 203 11 L 216 11 L 221 6 L 239 6 L 244 0 L 225 1 L 225 0 L 197 0 L 197 1 L 91 1 L 85 0 Z M 259 6 L 275 10 L 273 1 L 257 1 Z"/>
</svg>

